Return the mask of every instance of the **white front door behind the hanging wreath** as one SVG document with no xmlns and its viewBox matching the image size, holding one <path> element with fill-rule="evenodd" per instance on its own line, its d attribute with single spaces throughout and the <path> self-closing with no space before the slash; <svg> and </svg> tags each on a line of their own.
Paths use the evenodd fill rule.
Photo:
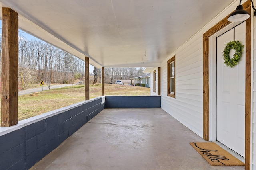
<svg viewBox="0 0 256 170">
<path fill-rule="evenodd" d="M 245 46 L 245 22 L 217 37 L 216 137 L 244 157 L 245 154 L 245 47 L 238 64 L 226 67 L 223 49 L 239 40 Z M 230 51 L 232 57 L 234 50 Z"/>
</svg>

